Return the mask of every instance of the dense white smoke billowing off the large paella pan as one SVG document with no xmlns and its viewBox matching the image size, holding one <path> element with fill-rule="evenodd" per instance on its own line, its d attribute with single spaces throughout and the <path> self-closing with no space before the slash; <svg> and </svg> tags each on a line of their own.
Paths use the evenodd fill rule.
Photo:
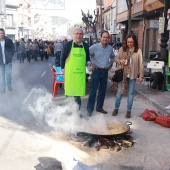
<svg viewBox="0 0 170 170">
<path fill-rule="evenodd" d="M 43 93 L 40 89 L 38 91 Z M 45 122 L 58 134 L 63 132 L 108 134 L 107 124 L 110 122 L 110 118 L 103 114 L 94 114 L 92 117 L 87 117 L 86 110 L 83 110 L 83 108 L 79 110 L 74 98 L 62 98 L 62 100 L 53 101 L 51 100 L 51 94 L 46 92 L 44 95 L 37 97 L 36 101 L 28 106 L 28 109 L 37 122 Z M 84 118 L 81 118 L 80 115 Z M 114 122 L 116 123 L 117 120 L 114 119 Z"/>
</svg>

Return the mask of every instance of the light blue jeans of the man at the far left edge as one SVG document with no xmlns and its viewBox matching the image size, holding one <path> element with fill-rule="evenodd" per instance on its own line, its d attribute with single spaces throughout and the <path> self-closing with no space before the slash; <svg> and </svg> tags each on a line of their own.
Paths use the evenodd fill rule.
<svg viewBox="0 0 170 170">
<path fill-rule="evenodd" d="M 8 88 L 11 88 L 11 74 L 12 63 L 0 64 L 1 91 L 6 90 L 6 83 Z"/>
</svg>

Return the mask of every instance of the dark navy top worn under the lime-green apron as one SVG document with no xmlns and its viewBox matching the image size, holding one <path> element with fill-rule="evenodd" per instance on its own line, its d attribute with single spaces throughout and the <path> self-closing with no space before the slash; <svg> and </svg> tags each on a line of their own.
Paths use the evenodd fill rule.
<svg viewBox="0 0 170 170">
<path fill-rule="evenodd" d="M 61 65 L 62 69 L 64 69 L 65 61 L 66 61 L 67 57 L 70 54 L 71 47 L 72 47 L 72 42 L 73 42 L 73 40 L 72 41 L 68 41 L 66 44 L 64 44 L 63 50 L 61 52 L 60 65 Z M 86 62 L 90 61 L 89 46 L 88 46 L 87 43 L 83 42 L 83 46 L 82 45 L 79 46 L 76 43 L 74 43 L 73 45 L 74 45 L 75 48 L 83 48 L 83 46 L 84 46 L 84 49 L 85 49 L 85 52 L 86 52 Z"/>
</svg>

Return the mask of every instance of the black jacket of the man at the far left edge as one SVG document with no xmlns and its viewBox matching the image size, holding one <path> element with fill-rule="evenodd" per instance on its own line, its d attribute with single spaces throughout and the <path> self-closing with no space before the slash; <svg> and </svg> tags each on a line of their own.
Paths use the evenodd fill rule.
<svg viewBox="0 0 170 170">
<path fill-rule="evenodd" d="M 12 62 L 12 58 L 15 53 L 15 48 L 14 44 L 11 39 L 8 37 L 5 37 L 5 59 L 6 59 L 6 64 Z M 0 44 L 0 64 L 3 64 L 3 56 L 2 56 L 2 48 Z"/>
</svg>

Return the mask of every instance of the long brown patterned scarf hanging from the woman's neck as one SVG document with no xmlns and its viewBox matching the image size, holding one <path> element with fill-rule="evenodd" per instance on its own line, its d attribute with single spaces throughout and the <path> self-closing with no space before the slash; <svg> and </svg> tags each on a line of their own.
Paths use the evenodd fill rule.
<svg viewBox="0 0 170 170">
<path fill-rule="evenodd" d="M 134 53 L 134 47 L 131 49 L 127 49 L 127 51 L 122 50 L 121 59 L 127 60 L 127 65 L 120 64 L 118 66 L 118 69 L 123 68 L 123 80 L 122 80 L 122 86 L 121 86 L 121 92 L 122 94 L 127 94 L 127 76 L 130 74 L 130 59 L 131 56 Z M 131 61 L 132 62 L 132 61 Z"/>
</svg>

